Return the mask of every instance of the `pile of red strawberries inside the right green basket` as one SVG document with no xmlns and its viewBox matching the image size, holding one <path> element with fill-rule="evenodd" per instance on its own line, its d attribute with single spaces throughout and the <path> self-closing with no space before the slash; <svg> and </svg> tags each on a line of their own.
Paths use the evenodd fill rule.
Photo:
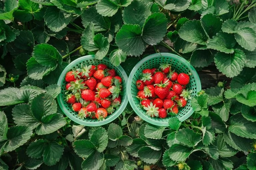
<svg viewBox="0 0 256 170">
<path fill-rule="evenodd" d="M 159 68 L 144 69 L 136 81 L 137 98 L 150 117 L 166 118 L 178 114 L 179 108 L 191 99 L 192 90 L 186 89 L 189 75 L 171 70 L 171 65 L 161 63 Z"/>
</svg>

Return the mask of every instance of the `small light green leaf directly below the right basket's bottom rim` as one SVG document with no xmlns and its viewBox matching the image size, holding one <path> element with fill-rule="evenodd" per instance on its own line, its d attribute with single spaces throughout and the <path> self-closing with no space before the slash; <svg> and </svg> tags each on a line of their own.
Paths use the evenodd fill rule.
<svg viewBox="0 0 256 170">
<path fill-rule="evenodd" d="M 165 127 L 162 126 L 147 124 L 144 131 L 145 137 L 151 139 L 161 139 L 164 129 Z"/>
</svg>

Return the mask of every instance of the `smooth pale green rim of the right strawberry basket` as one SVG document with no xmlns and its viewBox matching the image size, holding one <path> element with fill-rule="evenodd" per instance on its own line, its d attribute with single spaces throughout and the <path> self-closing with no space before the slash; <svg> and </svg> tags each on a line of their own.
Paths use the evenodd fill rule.
<svg viewBox="0 0 256 170">
<path fill-rule="evenodd" d="M 201 90 L 201 82 L 200 82 L 200 79 L 199 79 L 199 76 L 195 70 L 195 68 L 183 57 L 180 57 L 176 54 L 172 54 L 172 53 L 166 53 L 166 52 L 161 52 L 161 53 L 155 53 L 155 54 L 151 54 L 145 58 L 143 58 L 142 60 L 140 60 L 135 66 L 134 68 L 132 69 L 130 75 L 129 75 L 129 78 L 128 78 L 128 83 L 127 83 L 127 87 L 131 87 L 132 86 L 132 78 L 134 76 L 134 74 L 136 73 L 137 69 L 145 62 L 147 62 L 148 60 L 150 59 L 153 59 L 153 58 L 159 58 L 159 57 L 168 57 L 168 58 L 172 58 L 172 59 L 176 59 L 180 62 L 182 62 L 188 69 L 189 69 L 189 72 L 193 74 L 194 78 L 196 79 L 195 81 L 195 84 L 196 84 L 196 92 L 198 93 L 200 90 Z M 168 123 L 168 120 L 169 119 L 166 119 L 166 121 L 157 121 L 157 120 L 154 120 L 150 117 L 148 117 L 147 115 L 143 114 L 139 109 L 138 107 L 136 106 L 136 104 L 134 103 L 133 101 L 133 97 L 132 97 L 132 92 L 131 92 L 131 88 L 127 88 L 127 94 L 128 94 L 128 100 L 129 100 L 129 103 L 132 107 L 132 109 L 134 110 L 134 112 L 141 118 L 143 119 L 144 121 L 152 124 L 152 125 L 156 125 L 156 126 L 169 126 L 169 123 Z M 179 118 L 177 117 L 181 122 L 185 121 L 186 119 L 188 119 L 192 114 L 194 113 L 194 109 L 191 108 L 188 113 L 186 115 L 184 115 L 182 118 Z M 170 117 L 171 118 L 171 117 Z"/>
</svg>

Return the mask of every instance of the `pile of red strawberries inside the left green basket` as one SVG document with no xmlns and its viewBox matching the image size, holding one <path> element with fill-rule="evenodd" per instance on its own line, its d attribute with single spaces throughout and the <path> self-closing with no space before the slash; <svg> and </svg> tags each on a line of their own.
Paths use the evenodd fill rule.
<svg viewBox="0 0 256 170">
<path fill-rule="evenodd" d="M 86 65 L 66 73 L 66 102 L 80 119 L 104 120 L 121 104 L 122 78 L 105 64 Z"/>
</svg>

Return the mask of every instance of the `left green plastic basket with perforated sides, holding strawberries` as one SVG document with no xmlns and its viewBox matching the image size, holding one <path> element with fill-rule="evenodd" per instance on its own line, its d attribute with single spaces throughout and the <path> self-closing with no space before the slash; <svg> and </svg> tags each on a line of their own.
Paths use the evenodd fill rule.
<svg viewBox="0 0 256 170">
<path fill-rule="evenodd" d="M 98 65 L 100 63 L 106 64 L 108 68 L 110 69 L 115 69 L 117 75 L 119 75 L 122 78 L 122 91 L 123 91 L 123 96 L 121 96 L 121 105 L 120 107 L 111 115 L 108 115 L 105 120 L 103 121 L 98 121 L 97 119 L 79 119 L 77 116 L 77 113 L 74 112 L 70 106 L 65 101 L 65 95 L 64 95 L 64 90 L 66 89 L 66 81 L 65 81 L 65 75 L 68 71 L 70 71 L 73 68 L 78 68 L 78 66 L 81 65 L 81 63 L 85 63 L 87 65 Z M 62 71 L 59 80 L 58 80 L 58 85 L 61 87 L 61 93 L 58 95 L 57 100 L 58 103 L 61 107 L 61 110 L 71 119 L 72 121 L 80 124 L 80 125 L 85 125 L 85 126 L 102 126 L 107 123 L 110 123 L 114 121 L 125 109 L 126 105 L 128 104 L 128 99 L 127 99 L 127 94 L 126 94 L 126 84 L 127 84 L 127 74 L 125 73 L 124 69 L 121 66 L 113 66 L 111 62 L 108 60 L 108 58 L 103 58 L 102 60 L 98 60 L 94 57 L 94 55 L 86 55 L 83 57 L 80 57 L 74 61 L 72 61 L 70 64 L 67 65 L 67 67 Z"/>
</svg>

